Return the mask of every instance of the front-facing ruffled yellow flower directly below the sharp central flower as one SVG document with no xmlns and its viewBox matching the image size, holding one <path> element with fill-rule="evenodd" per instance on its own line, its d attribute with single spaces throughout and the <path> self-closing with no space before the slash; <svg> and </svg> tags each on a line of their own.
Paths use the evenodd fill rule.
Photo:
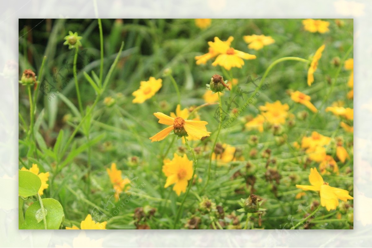
<svg viewBox="0 0 372 248">
<path fill-rule="evenodd" d="M 174 184 L 173 190 L 179 196 L 181 192 L 186 192 L 188 181 L 192 178 L 193 162 L 187 158 L 186 154 L 181 157 L 174 153 L 172 160 L 164 160 L 163 172 L 167 177 L 164 188 Z"/>
</svg>

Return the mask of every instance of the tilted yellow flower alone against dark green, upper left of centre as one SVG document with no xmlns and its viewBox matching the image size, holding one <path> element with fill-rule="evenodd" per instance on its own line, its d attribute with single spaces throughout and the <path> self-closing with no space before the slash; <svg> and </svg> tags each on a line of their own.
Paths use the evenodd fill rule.
<svg viewBox="0 0 372 248">
<path fill-rule="evenodd" d="M 150 76 L 148 81 L 141 81 L 140 88 L 137 89 L 132 95 L 135 97 L 133 103 L 142 103 L 147 99 L 150 99 L 155 95 L 156 92 L 161 88 L 162 80 L 155 79 L 153 76 Z"/>
</svg>

